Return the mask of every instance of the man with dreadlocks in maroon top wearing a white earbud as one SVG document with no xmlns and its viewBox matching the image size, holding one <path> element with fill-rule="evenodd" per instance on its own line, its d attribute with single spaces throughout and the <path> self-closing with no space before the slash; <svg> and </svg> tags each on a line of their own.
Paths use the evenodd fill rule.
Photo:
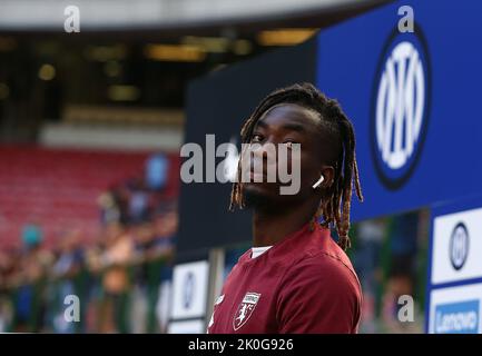
<svg viewBox="0 0 482 356">
<path fill-rule="evenodd" d="M 259 103 L 242 142 L 299 144 L 301 185 L 281 195 L 279 179 L 244 182 L 239 162 L 230 208 L 253 208 L 254 247 L 227 277 L 208 333 L 356 333 L 362 293 L 344 253 L 353 185 L 363 200 L 352 123 L 314 86 L 294 85 Z"/>
</svg>

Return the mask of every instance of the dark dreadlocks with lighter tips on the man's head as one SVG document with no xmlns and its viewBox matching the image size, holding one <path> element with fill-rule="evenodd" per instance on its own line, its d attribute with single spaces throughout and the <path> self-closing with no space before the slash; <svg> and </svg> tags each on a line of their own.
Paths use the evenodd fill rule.
<svg viewBox="0 0 482 356">
<path fill-rule="evenodd" d="M 335 169 L 333 185 L 327 189 L 326 198 L 322 199 L 313 222 L 316 224 L 319 217 L 323 217 L 322 226 L 329 227 L 329 224 L 333 224 L 338 234 L 338 245 L 346 250 L 351 247 L 348 230 L 353 184 L 358 200 L 363 201 L 355 157 L 355 132 L 352 122 L 336 100 L 327 98 L 311 83 L 296 83 L 277 89 L 260 101 L 243 125 L 240 131 L 242 144 L 250 142 L 253 130 L 259 118 L 270 108 L 281 103 L 295 103 L 317 112 L 324 129 L 329 134 L 332 140 L 338 145 L 340 155 L 332 162 Z M 240 160 L 238 164 L 238 179 L 233 184 L 229 210 L 234 210 L 235 206 L 238 208 L 245 206 L 243 184 L 239 182 L 239 177 Z"/>
</svg>

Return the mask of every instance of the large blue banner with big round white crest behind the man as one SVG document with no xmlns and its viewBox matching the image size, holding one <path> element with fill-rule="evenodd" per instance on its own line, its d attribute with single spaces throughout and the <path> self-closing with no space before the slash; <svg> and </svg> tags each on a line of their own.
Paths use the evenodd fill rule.
<svg viewBox="0 0 482 356">
<path fill-rule="evenodd" d="M 318 34 L 317 86 L 356 130 L 353 219 L 482 194 L 481 17 L 482 1 L 395 1 Z"/>
</svg>

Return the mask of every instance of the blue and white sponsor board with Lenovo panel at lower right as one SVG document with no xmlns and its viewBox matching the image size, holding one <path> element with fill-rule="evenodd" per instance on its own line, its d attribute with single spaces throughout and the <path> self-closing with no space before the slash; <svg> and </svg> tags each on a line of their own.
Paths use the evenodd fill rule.
<svg viewBox="0 0 482 356">
<path fill-rule="evenodd" d="M 425 330 L 482 333 L 482 196 L 433 206 Z"/>
</svg>

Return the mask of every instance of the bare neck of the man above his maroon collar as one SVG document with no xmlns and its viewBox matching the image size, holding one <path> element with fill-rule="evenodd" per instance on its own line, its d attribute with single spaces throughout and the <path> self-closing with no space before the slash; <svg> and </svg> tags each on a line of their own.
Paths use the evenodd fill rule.
<svg viewBox="0 0 482 356">
<path fill-rule="evenodd" d="M 273 246 L 279 243 L 286 236 L 308 224 L 315 210 L 309 207 L 299 207 L 276 214 L 255 210 L 253 214 L 253 246 Z"/>
</svg>

